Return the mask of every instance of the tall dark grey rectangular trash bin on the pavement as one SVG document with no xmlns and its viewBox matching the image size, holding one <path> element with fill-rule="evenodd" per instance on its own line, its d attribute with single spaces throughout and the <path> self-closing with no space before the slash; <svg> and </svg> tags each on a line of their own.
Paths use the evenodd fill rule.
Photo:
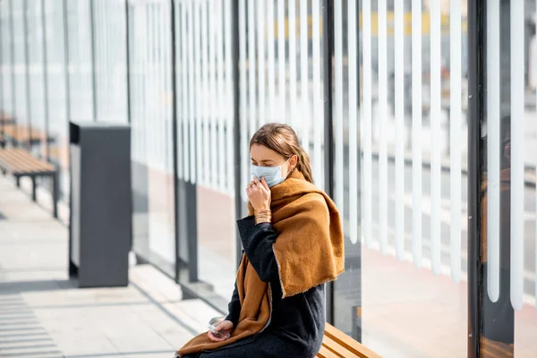
<svg viewBox="0 0 537 358">
<path fill-rule="evenodd" d="M 131 129 L 70 125 L 69 276 L 80 287 L 127 286 L 132 236 Z"/>
</svg>

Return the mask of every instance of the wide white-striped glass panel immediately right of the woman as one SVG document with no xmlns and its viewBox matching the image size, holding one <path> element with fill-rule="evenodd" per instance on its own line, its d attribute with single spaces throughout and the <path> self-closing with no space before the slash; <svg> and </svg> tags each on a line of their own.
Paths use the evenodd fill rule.
<svg viewBox="0 0 537 358">
<path fill-rule="evenodd" d="M 466 355 L 465 4 L 334 6 L 335 319 L 383 356 Z"/>
</svg>

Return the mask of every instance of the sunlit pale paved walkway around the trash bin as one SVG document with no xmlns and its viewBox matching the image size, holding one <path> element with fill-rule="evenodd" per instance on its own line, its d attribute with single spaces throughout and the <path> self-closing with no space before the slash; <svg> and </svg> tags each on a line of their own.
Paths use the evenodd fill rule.
<svg viewBox="0 0 537 358">
<path fill-rule="evenodd" d="M 171 358 L 219 315 L 150 266 L 130 282 L 74 287 L 66 227 L 0 175 L 0 357 Z"/>
</svg>

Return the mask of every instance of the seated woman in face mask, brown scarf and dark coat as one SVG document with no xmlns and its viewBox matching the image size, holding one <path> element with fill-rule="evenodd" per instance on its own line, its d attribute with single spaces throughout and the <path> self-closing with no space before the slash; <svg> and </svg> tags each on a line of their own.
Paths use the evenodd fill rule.
<svg viewBox="0 0 537 358">
<path fill-rule="evenodd" d="M 310 159 L 286 124 L 251 138 L 250 216 L 237 221 L 243 260 L 229 315 L 180 357 L 311 358 L 325 327 L 324 284 L 344 270 L 336 206 L 313 185 Z"/>
</svg>

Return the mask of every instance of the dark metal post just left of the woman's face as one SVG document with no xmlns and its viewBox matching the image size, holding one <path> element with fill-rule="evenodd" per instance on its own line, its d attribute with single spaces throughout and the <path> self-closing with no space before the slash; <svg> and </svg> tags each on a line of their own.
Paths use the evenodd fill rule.
<svg viewBox="0 0 537 358">
<path fill-rule="evenodd" d="M 235 217 L 243 217 L 243 199 L 241 198 L 242 186 L 241 186 L 241 93 L 239 86 L 239 0 L 232 0 L 232 61 L 233 61 L 233 109 L 234 109 L 234 200 L 235 200 Z M 244 35 L 244 34 L 243 34 Z M 243 68 L 244 71 L 244 68 Z M 246 87 L 244 85 L 244 87 Z M 239 264 L 242 258 L 241 252 L 241 238 L 238 234 L 236 236 L 236 263 Z"/>
</svg>

